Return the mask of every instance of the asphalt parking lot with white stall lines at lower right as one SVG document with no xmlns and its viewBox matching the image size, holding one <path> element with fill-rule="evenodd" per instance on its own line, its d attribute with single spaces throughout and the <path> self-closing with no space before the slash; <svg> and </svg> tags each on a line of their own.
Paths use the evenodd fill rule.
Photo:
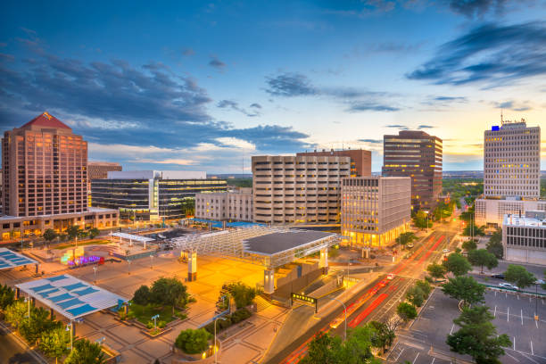
<svg viewBox="0 0 546 364">
<path fill-rule="evenodd" d="M 538 305 L 537 305 L 538 303 Z M 507 364 L 546 363 L 546 302 L 525 295 L 487 290 L 485 304 L 494 316 L 493 325 L 497 333 L 509 335 L 511 345 L 505 348 L 501 358 Z M 534 319 L 538 306 L 539 320 Z M 388 356 L 388 362 L 412 364 L 472 362 L 465 355 L 450 352 L 445 343 L 447 335 L 458 330 L 453 318 L 459 316 L 458 302 L 436 289 L 419 318 L 409 330 L 401 330 L 399 342 Z"/>
</svg>

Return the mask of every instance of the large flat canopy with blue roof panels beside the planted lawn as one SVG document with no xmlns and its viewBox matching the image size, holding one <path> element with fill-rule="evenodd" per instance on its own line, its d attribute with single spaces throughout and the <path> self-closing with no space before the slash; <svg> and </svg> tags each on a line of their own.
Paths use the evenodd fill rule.
<svg viewBox="0 0 546 364">
<path fill-rule="evenodd" d="M 112 294 L 69 274 L 15 286 L 70 320 L 128 302 L 118 294 Z"/>
</svg>

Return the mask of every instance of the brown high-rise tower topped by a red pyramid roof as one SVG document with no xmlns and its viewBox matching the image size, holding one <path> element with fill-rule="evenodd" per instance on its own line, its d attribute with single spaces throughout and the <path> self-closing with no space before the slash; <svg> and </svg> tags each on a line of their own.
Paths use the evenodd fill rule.
<svg viewBox="0 0 546 364">
<path fill-rule="evenodd" d="M 3 213 L 87 211 L 87 142 L 44 112 L 2 139 Z"/>
</svg>

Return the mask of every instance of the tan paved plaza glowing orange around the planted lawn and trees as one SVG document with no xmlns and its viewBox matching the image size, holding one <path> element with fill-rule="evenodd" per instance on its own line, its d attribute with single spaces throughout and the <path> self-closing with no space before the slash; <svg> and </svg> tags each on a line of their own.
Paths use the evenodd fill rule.
<svg viewBox="0 0 546 364">
<path fill-rule="evenodd" d="M 215 302 L 224 283 L 242 281 L 256 286 L 263 280 L 261 267 L 243 261 L 198 257 L 197 264 L 197 280 L 185 282 L 196 302 L 189 304 L 188 319 L 173 327 L 170 332 L 150 339 L 140 329 L 115 320 L 111 314 L 96 312 L 84 318 L 83 323 L 76 325 L 76 335 L 93 341 L 104 337 L 105 345 L 120 352 L 122 362 L 149 363 L 159 359 L 161 362 L 170 363 L 171 347 L 180 330 L 197 328 L 212 318 Z M 89 283 L 95 281 L 95 272 L 91 266 L 64 269 L 58 263 L 44 263 L 40 270 L 45 270 L 45 277 L 50 276 L 50 272 L 66 272 Z M 33 273 L 32 269 L 12 269 L 0 273 L 0 280 L 12 285 L 36 279 L 31 277 Z M 179 262 L 170 253 L 153 260 L 143 258 L 132 261 L 130 265 L 126 261 L 106 262 L 97 269 L 96 285 L 130 299 L 140 285 L 151 285 L 159 277 L 178 277 L 185 281 L 187 264 Z M 227 332 L 219 335 L 223 348 L 219 362 L 244 364 L 260 360 L 277 329 L 284 322 L 287 312 L 285 308 L 269 305 L 244 321 L 244 325 L 230 327 Z M 66 320 L 59 315 L 56 318 Z"/>
</svg>

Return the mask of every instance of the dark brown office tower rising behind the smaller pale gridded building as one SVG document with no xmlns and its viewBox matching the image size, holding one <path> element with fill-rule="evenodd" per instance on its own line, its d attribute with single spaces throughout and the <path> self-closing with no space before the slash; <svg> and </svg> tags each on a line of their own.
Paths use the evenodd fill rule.
<svg viewBox="0 0 546 364">
<path fill-rule="evenodd" d="M 384 177 L 411 178 L 413 210 L 432 210 L 442 193 L 443 143 L 424 131 L 401 130 L 384 136 Z"/>
</svg>

